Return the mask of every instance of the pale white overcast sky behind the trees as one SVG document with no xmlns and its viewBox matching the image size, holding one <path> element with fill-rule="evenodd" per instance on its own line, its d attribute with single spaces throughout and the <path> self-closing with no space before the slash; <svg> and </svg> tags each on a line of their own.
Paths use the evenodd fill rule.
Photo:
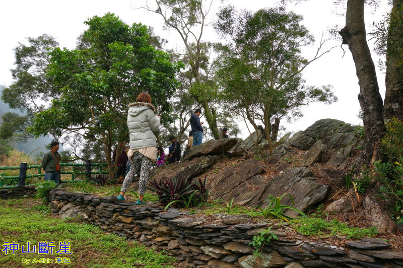
<svg viewBox="0 0 403 268">
<path fill-rule="evenodd" d="M 220 6 L 231 4 L 237 9 L 247 9 L 257 11 L 261 8 L 275 7 L 277 0 L 231 0 L 221 3 L 217 1 L 212 7 L 210 21 L 214 20 L 215 13 Z M 376 10 L 366 7 L 365 20 L 367 32 L 373 21 L 379 21 L 382 16 L 389 11 L 387 1 Z M 154 28 L 154 32 L 167 39 L 165 48 L 181 48 L 182 41 L 177 32 L 163 29 L 163 20 L 158 14 L 147 12 L 144 9 L 137 9 L 145 4 L 145 0 L 70 0 L 70 1 L 1 1 L 0 2 L 0 85 L 10 85 L 12 76 L 10 69 L 14 64 L 13 49 L 19 42 L 27 43 L 27 37 L 37 37 L 41 34 L 49 34 L 56 38 L 60 47 L 72 49 L 75 47 L 77 37 L 87 29 L 83 23 L 88 18 L 95 15 L 102 16 L 107 12 L 118 15 L 125 23 L 141 22 Z M 330 0 L 310 0 L 298 6 L 288 5 L 288 10 L 292 10 L 303 16 L 302 24 L 309 30 L 317 41 L 326 31 L 326 28 L 345 25 L 345 17 L 340 13 L 345 13 L 345 7 L 335 8 Z M 219 36 L 210 26 L 205 29 L 204 41 L 220 41 Z M 367 39 L 370 39 L 368 37 Z M 317 46 L 317 43 L 315 44 Z M 307 59 L 314 56 L 315 45 L 302 50 L 302 55 Z M 339 101 L 331 105 L 320 103 L 310 104 L 304 107 L 303 117 L 292 122 L 281 122 L 286 127 L 286 131 L 299 131 L 306 129 L 315 121 L 323 118 L 334 118 L 351 124 L 361 124 L 362 121 L 356 116 L 359 113 L 360 105 L 357 99 L 359 93 L 358 78 L 352 55 L 347 45 L 344 45 L 345 54 L 340 47 L 339 41 L 330 41 L 326 47 L 338 46 L 320 59 L 310 64 L 304 71 L 303 77 L 306 85 L 321 86 L 332 85 L 334 94 Z M 373 41 L 369 41 L 370 47 Z M 344 55 L 344 56 L 343 56 Z M 372 58 L 377 65 L 379 56 L 373 53 Z M 385 95 L 385 75 L 377 68 L 377 78 L 382 98 Z M 249 135 L 244 125 L 242 127 L 241 138 Z M 285 133 L 282 131 L 280 134 Z M 231 131 L 229 130 L 231 135 Z"/>
</svg>

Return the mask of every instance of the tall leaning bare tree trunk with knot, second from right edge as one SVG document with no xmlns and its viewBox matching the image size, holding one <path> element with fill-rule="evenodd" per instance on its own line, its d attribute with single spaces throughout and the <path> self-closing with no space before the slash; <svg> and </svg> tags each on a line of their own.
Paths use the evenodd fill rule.
<svg viewBox="0 0 403 268">
<path fill-rule="evenodd" d="M 346 26 L 339 32 L 347 44 L 356 66 L 360 94 L 358 100 L 363 111 L 365 140 L 361 152 L 362 163 L 370 165 L 377 157 L 378 141 L 385 131 L 383 104 L 379 94 L 375 65 L 368 47 L 364 22 L 364 1 L 348 0 Z"/>
</svg>

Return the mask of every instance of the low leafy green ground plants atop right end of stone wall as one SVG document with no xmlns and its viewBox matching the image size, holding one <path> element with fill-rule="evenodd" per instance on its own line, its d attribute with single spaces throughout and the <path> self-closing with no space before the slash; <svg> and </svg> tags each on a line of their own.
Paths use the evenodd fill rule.
<svg viewBox="0 0 403 268">
<path fill-rule="evenodd" d="M 326 221 L 320 218 L 298 218 L 290 221 L 293 228 L 302 235 L 314 235 L 314 236 L 336 236 L 344 235 L 347 238 L 357 239 L 361 237 L 374 236 L 378 233 L 376 227 L 370 227 L 369 229 L 360 229 L 358 227 L 350 227 L 346 223 L 341 223 L 336 219 Z M 326 233 L 326 234 L 325 234 Z"/>
</svg>

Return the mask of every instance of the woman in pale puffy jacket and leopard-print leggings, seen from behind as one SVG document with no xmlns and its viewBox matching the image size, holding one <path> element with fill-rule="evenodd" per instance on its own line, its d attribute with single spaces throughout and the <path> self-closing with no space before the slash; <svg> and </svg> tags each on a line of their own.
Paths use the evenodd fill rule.
<svg viewBox="0 0 403 268">
<path fill-rule="evenodd" d="M 139 180 L 139 199 L 136 205 L 144 202 L 144 193 L 151 169 L 151 162 L 157 158 L 157 138 L 154 132 L 160 127 L 160 116 L 155 115 L 155 107 L 151 104 L 151 96 L 147 92 L 140 93 L 137 102 L 129 105 L 127 126 L 129 128 L 130 150 L 127 153 L 131 161 L 130 170 L 124 178 L 118 200 L 124 200 L 124 193 L 141 165 Z"/>
</svg>

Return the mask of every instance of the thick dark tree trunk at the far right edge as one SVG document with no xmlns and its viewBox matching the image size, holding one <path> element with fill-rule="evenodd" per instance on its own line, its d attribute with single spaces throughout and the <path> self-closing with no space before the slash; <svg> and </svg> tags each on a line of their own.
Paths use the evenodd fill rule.
<svg viewBox="0 0 403 268">
<path fill-rule="evenodd" d="M 403 120 L 403 0 L 393 0 L 390 14 L 389 32 L 386 44 L 386 94 L 383 118 L 388 122 L 392 117 Z"/>
</svg>

